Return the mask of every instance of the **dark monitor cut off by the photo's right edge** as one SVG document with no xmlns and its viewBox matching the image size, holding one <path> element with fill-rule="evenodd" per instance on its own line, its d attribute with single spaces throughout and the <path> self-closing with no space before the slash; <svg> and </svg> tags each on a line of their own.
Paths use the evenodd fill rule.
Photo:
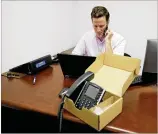
<svg viewBox="0 0 158 134">
<path fill-rule="evenodd" d="M 147 40 L 144 67 L 142 71 L 143 83 L 157 82 L 157 39 Z"/>
</svg>

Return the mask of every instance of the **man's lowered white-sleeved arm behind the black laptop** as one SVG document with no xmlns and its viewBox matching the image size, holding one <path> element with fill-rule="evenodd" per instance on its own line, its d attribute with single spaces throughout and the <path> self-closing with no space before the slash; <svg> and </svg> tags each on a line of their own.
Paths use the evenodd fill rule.
<svg viewBox="0 0 158 134">
<path fill-rule="evenodd" d="M 85 40 L 84 40 L 84 36 L 79 40 L 79 42 L 77 43 L 76 47 L 74 48 L 74 50 L 72 51 L 72 54 L 75 55 L 85 55 Z"/>
</svg>

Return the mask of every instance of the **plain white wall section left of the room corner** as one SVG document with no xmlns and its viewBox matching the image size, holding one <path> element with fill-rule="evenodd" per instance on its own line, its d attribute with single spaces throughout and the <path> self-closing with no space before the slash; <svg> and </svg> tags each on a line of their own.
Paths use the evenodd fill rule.
<svg viewBox="0 0 158 134">
<path fill-rule="evenodd" d="M 2 1 L 2 72 L 72 46 L 71 1 Z"/>
</svg>

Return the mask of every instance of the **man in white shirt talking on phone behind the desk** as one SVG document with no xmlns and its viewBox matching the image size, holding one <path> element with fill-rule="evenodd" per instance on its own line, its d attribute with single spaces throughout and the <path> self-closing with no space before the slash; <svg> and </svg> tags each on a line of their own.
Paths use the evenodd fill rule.
<svg viewBox="0 0 158 134">
<path fill-rule="evenodd" d="M 125 39 L 118 33 L 108 29 L 110 14 L 105 7 L 92 9 L 91 20 L 94 30 L 83 35 L 72 54 L 97 56 L 104 52 L 124 55 Z"/>
</svg>

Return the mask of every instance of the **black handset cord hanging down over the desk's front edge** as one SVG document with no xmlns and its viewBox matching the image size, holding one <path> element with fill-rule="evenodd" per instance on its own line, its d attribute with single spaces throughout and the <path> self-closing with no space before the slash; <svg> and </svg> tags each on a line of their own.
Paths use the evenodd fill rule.
<svg viewBox="0 0 158 134">
<path fill-rule="evenodd" d="M 59 109 L 58 109 L 59 133 L 61 133 L 61 129 L 62 129 L 64 102 L 65 102 L 65 95 L 62 97 L 62 101 L 61 101 L 61 103 L 59 105 Z"/>
</svg>

